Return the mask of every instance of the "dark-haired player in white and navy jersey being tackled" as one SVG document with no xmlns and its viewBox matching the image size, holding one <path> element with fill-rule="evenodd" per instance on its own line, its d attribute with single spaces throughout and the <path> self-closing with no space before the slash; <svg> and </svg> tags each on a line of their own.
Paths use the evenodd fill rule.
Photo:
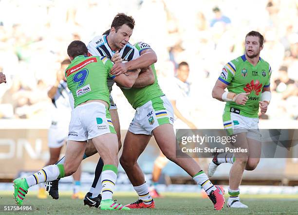
<svg viewBox="0 0 298 215">
<path fill-rule="evenodd" d="M 156 54 L 153 50 L 148 50 L 142 53 L 142 56 L 139 57 L 138 50 L 133 47 L 128 41 L 132 34 L 134 28 L 134 19 L 125 14 L 117 14 L 112 21 L 111 29 L 106 31 L 102 36 L 95 36 L 90 43 L 88 44 L 88 55 L 89 56 L 107 56 L 113 62 L 121 62 L 128 61 L 126 63 L 119 63 L 121 71 L 112 71 L 118 76 L 127 76 L 126 81 L 124 81 L 121 85 L 124 87 L 144 87 L 154 83 L 154 76 L 151 69 L 146 70 L 146 72 L 142 72 L 138 78 L 135 80 L 135 72 L 134 69 L 137 68 L 146 68 L 152 63 L 155 63 L 157 60 Z M 115 64 L 113 69 L 116 68 L 118 70 L 118 64 Z M 112 69 L 112 70 L 113 70 Z M 123 70 L 125 69 L 125 70 Z M 128 70 L 132 70 L 132 72 L 127 72 Z M 145 71 L 143 70 L 143 71 Z M 121 74 L 125 73 L 125 74 Z M 132 76 L 132 77 L 131 77 Z M 108 79 L 108 87 L 111 93 L 112 85 L 114 84 L 116 79 Z M 72 96 L 70 96 L 70 100 L 72 100 Z M 120 136 L 120 124 L 119 117 L 117 113 L 117 106 L 114 104 L 112 96 L 110 94 L 110 102 L 111 107 L 109 109 L 112 122 L 114 128 L 117 133 L 119 150 L 121 148 L 121 136 Z M 70 102 L 73 103 L 72 101 Z M 92 144 L 92 141 L 89 141 L 91 144 L 87 145 L 84 158 L 92 156 L 97 153 L 95 147 Z M 58 163 L 64 163 L 64 158 L 62 158 Z M 90 188 L 90 191 L 86 194 L 84 198 L 84 204 L 89 206 L 98 207 L 101 199 L 101 183 L 97 183 L 100 180 L 100 174 L 103 167 L 103 161 L 100 158 L 96 170 L 95 177 Z M 96 187 L 96 184 L 98 186 Z M 59 197 L 58 194 L 58 180 L 47 182 L 47 190 L 49 194 L 57 199 Z"/>
</svg>

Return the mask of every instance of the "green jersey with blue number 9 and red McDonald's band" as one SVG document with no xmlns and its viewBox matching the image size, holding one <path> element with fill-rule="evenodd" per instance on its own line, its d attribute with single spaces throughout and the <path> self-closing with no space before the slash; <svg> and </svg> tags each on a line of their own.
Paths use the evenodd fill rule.
<svg viewBox="0 0 298 215">
<path fill-rule="evenodd" d="M 100 99 L 110 106 L 107 78 L 112 61 L 108 57 L 76 56 L 65 71 L 67 86 L 74 96 L 75 106 L 89 100 Z"/>
</svg>

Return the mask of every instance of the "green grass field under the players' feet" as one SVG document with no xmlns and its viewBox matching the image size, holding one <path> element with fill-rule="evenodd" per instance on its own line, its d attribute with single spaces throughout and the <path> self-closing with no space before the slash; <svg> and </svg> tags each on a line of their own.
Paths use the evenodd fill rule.
<svg viewBox="0 0 298 215">
<path fill-rule="evenodd" d="M 0 214 L 49 214 L 49 215 L 84 215 L 84 214 L 162 214 L 162 215 L 180 215 L 180 214 L 298 214 L 298 195 L 242 195 L 243 203 L 249 206 L 248 209 L 230 209 L 225 208 L 218 212 L 213 210 L 213 205 L 209 199 L 202 198 L 200 194 L 193 193 L 165 193 L 163 198 L 156 198 L 156 209 L 131 210 L 127 212 L 120 211 L 100 211 L 97 208 L 89 208 L 83 205 L 79 199 L 71 199 L 70 193 L 62 193 L 58 200 L 50 197 L 47 199 L 37 199 L 36 192 L 29 192 L 24 201 L 24 205 L 32 205 L 34 210 L 31 212 L 9 213 L 0 211 Z M 226 196 L 227 197 L 227 196 Z M 117 202 L 127 204 L 136 200 L 134 193 L 118 192 L 114 195 Z M 0 192 L 0 206 L 15 205 L 12 193 Z"/>
</svg>

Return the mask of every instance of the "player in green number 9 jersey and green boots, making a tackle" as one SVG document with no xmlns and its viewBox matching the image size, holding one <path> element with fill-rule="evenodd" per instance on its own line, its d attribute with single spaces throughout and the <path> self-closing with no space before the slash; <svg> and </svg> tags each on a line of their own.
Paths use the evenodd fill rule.
<svg viewBox="0 0 298 215">
<path fill-rule="evenodd" d="M 72 63 L 65 71 L 67 86 L 74 97 L 74 109 L 69 125 L 68 144 L 64 164 L 49 165 L 37 173 L 14 180 L 14 197 L 20 206 L 28 188 L 45 181 L 52 181 L 76 172 L 85 153 L 87 140 L 92 140 L 104 161 L 101 174 L 101 210 L 130 210 L 112 201 L 113 189 L 117 179 L 118 141 L 109 113 L 110 99 L 107 78 L 112 77 L 119 84 L 119 75 L 111 76 L 112 62 L 108 57 L 87 56 L 86 45 L 73 41 L 67 49 Z M 135 79 L 137 77 L 135 72 Z"/>
</svg>

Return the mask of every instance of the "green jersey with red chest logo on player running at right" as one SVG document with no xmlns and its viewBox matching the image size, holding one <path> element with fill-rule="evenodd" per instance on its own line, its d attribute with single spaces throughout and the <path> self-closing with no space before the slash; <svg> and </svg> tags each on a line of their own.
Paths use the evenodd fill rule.
<svg viewBox="0 0 298 215">
<path fill-rule="evenodd" d="M 227 102 L 224 110 L 230 112 L 236 110 L 236 113 L 242 116 L 258 118 L 261 93 L 263 88 L 270 86 L 270 76 L 271 67 L 261 57 L 256 66 L 248 62 L 245 54 L 228 62 L 218 79 L 228 85 L 229 92 L 250 94 L 245 105 Z"/>
</svg>

